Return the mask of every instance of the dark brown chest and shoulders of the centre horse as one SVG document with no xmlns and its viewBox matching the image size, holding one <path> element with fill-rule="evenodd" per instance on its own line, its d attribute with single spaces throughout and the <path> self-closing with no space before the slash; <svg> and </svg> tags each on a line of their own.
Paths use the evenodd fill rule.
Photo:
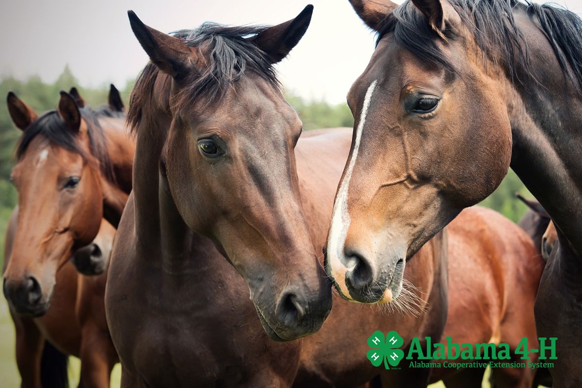
<svg viewBox="0 0 582 388">
<path fill-rule="evenodd" d="M 132 194 L 106 291 L 122 386 L 289 386 L 299 344 L 268 339 L 249 288 L 212 241 L 168 222 L 184 250 L 164 262 L 159 247 L 137 241 L 134 203 Z"/>
</svg>

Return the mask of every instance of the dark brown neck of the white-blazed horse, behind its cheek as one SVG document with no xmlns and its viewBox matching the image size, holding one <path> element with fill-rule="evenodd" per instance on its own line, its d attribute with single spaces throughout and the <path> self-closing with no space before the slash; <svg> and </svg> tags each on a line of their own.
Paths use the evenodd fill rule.
<svg viewBox="0 0 582 388">
<path fill-rule="evenodd" d="M 531 23 L 529 20 L 527 23 Z M 553 55 L 545 35 L 525 26 L 532 73 L 539 80 L 508 87 L 511 167 L 582 255 L 582 98 Z"/>
</svg>

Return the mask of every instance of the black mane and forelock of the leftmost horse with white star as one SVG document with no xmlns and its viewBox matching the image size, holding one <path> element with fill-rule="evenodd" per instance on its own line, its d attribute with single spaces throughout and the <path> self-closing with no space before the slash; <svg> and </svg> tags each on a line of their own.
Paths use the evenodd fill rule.
<svg viewBox="0 0 582 388">
<path fill-rule="evenodd" d="M 97 112 L 91 108 L 80 108 L 79 112 L 81 113 L 81 117 L 87 123 L 87 135 L 89 137 L 89 149 L 91 155 L 97 159 L 99 168 L 105 178 L 112 183 L 115 183 L 115 172 L 113 171 L 111 158 L 109 158 L 107 139 L 105 138 L 105 134 L 99 123 L 99 118 L 103 116 L 116 117 L 116 112 Z M 123 116 L 119 117 L 123 118 Z M 81 155 L 83 159 L 87 160 L 87 155 L 77 142 L 76 134 L 66 126 L 65 122 L 63 122 L 56 111 L 44 113 L 23 131 L 16 148 L 17 160 L 22 158 L 31 141 L 33 141 L 37 136 L 44 136 L 49 142 L 65 148 L 68 151 L 76 152 Z"/>
</svg>

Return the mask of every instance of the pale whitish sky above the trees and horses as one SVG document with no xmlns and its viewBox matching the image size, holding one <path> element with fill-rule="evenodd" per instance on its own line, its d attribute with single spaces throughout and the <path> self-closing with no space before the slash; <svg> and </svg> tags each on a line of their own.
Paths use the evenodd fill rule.
<svg viewBox="0 0 582 388">
<path fill-rule="evenodd" d="M 205 21 L 278 24 L 313 3 L 311 25 L 277 65 L 287 90 L 307 99 L 344 102 L 374 50 L 375 36 L 347 0 L 0 0 L 0 76 L 33 74 L 53 82 L 68 63 L 87 87 L 124 87 L 147 63 L 127 10 L 160 31 L 191 29 Z M 399 0 L 398 2 L 401 2 Z M 582 13 L 582 0 L 559 0 Z"/>
</svg>

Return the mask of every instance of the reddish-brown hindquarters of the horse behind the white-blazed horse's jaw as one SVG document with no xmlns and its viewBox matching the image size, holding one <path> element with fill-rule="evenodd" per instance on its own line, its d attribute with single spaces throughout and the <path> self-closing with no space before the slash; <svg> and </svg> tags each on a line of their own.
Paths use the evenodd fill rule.
<svg viewBox="0 0 582 388">
<path fill-rule="evenodd" d="M 446 344 L 449 336 L 459 344 L 507 343 L 513 352 L 527 337 L 528 346 L 537 348 L 533 306 L 544 262 L 530 237 L 499 213 L 480 207 L 464 209 L 447 229 L 451 297 L 441 342 Z M 521 362 L 518 356 L 511 361 Z M 441 368 L 433 369 L 432 378 L 443 379 L 449 388 L 481 386 L 483 372 Z M 494 368 L 491 383 L 530 387 L 534 373 L 527 367 Z"/>
</svg>

